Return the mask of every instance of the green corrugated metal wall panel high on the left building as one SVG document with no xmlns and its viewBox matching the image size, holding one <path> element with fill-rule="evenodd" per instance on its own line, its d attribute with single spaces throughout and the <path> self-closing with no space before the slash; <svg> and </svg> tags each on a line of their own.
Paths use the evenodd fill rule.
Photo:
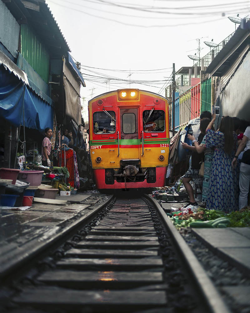
<svg viewBox="0 0 250 313">
<path fill-rule="evenodd" d="M 48 84 L 49 54 L 44 45 L 27 24 L 21 25 L 21 54 Z"/>
</svg>

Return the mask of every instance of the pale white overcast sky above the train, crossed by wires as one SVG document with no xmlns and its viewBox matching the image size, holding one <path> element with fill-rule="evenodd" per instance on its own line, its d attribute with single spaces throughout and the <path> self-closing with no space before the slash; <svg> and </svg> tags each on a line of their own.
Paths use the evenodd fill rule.
<svg viewBox="0 0 250 313">
<path fill-rule="evenodd" d="M 138 88 L 165 95 L 172 68 L 192 66 L 188 54 L 210 50 L 246 17 L 246 0 L 46 0 L 73 58 L 81 63 L 83 117 L 88 101 L 109 90 Z M 237 24 L 238 27 L 239 24 Z M 111 80 L 112 78 L 112 80 Z M 129 81 L 130 80 L 130 81 Z"/>
</svg>

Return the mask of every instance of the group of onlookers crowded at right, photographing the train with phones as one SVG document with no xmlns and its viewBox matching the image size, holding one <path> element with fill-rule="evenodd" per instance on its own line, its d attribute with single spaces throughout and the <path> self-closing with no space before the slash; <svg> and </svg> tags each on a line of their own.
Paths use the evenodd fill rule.
<svg viewBox="0 0 250 313">
<path fill-rule="evenodd" d="M 237 117 L 223 116 L 214 129 L 215 114 L 209 111 L 200 116 L 200 135 L 192 146 L 182 143 L 191 151 L 189 169 L 183 184 L 189 196 L 187 206 L 197 206 L 192 180 L 202 190 L 202 203 L 208 209 L 233 211 L 247 206 L 250 181 L 250 123 Z"/>
</svg>

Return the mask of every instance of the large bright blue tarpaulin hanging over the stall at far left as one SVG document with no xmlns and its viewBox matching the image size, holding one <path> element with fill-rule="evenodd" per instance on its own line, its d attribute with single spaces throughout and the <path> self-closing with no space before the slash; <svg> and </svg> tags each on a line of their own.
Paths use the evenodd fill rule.
<svg viewBox="0 0 250 313">
<path fill-rule="evenodd" d="M 0 117 L 13 126 L 23 125 L 24 106 L 25 127 L 42 133 L 46 127 L 52 128 L 53 107 L 28 88 L 20 75 L 15 76 L 3 65 L 0 66 Z"/>
</svg>

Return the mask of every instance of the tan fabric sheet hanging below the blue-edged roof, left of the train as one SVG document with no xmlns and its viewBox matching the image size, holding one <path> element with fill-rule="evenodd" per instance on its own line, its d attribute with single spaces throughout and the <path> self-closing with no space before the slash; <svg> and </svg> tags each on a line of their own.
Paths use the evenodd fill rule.
<svg viewBox="0 0 250 313">
<path fill-rule="evenodd" d="M 82 121 L 80 102 L 81 83 L 74 78 L 68 65 L 66 64 L 65 59 L 63 61 L 63 85 L 66 99 L 65 114 L 72 118 L 77 123 L 77 125 L 80 125 Z"/>
</svg>

